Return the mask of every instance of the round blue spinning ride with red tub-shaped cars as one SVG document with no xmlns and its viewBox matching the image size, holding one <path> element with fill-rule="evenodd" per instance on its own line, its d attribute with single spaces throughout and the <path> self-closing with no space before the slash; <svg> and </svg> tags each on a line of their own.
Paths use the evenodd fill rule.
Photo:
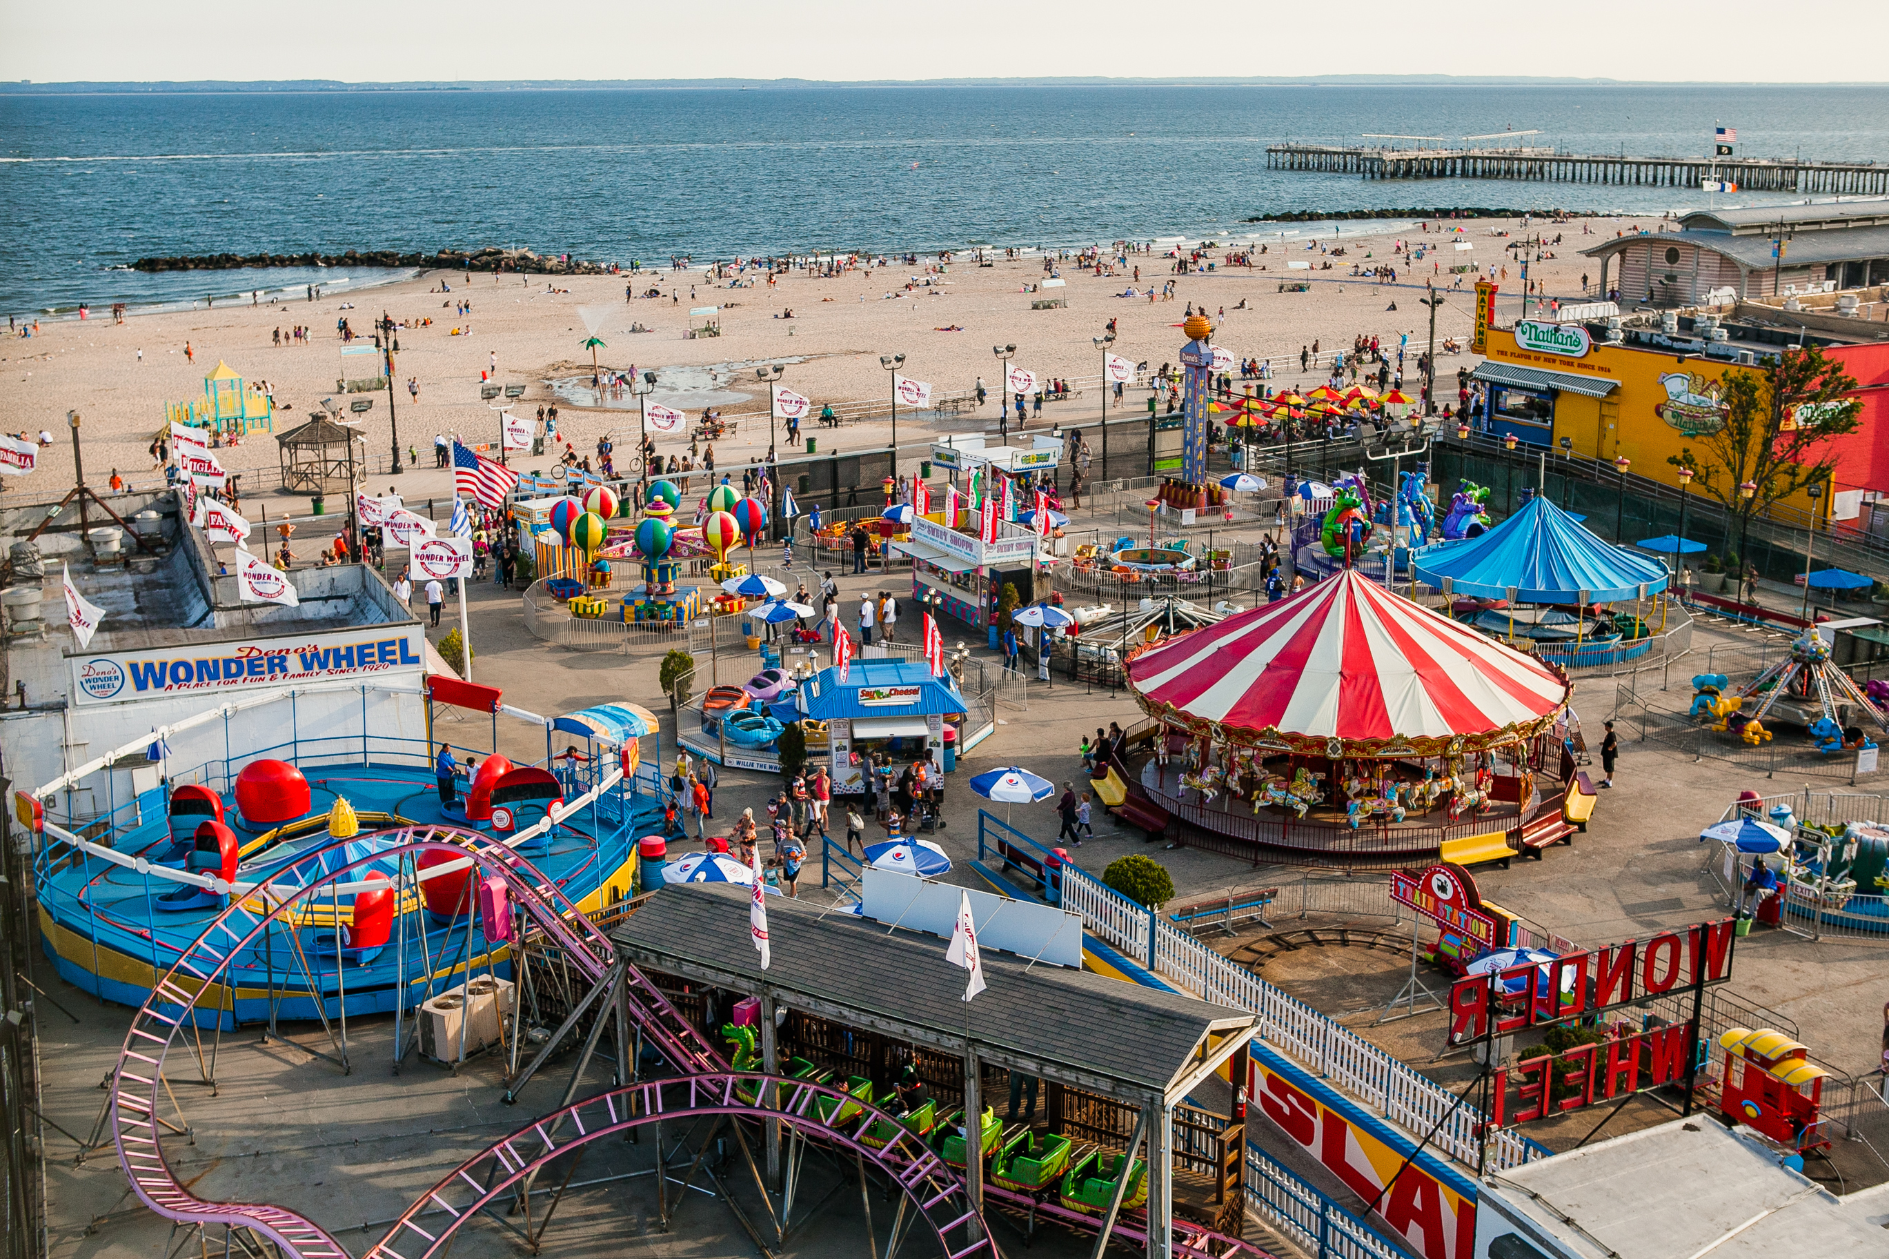
<svg viewBox="0 0 1889 1259">
<path fill-rule="evenodd" d="M 293 900 L 230 959 L 234 982 L 198 999 L 202 1025 L 385 1012 L 402 983 L 438 991 L 474 972 L 506 976 L 512 932 L 502 898 L 491 902 L 493 880 L 474 880 L 472 865 L 444 849 L 383 855 L 412 840 L 504 844 L 587 914 L 633 893 L 635 836 L 661 821 L 640 751 L 655 734 L 652 715 L 603 706 L 548 719 L 504 706 L 493 687 L 442 678 L 427 680 L 425 697 L 425 742 L 368 730 L 365 702 L 361 729 L 348 729 L 334 717 L 349 704 L 319 710 L 308 695 L 300 704 L 283 695 L 270 704 L 280 719 L 255 727 L 287 734 L 280 746 L 172 768 L 187 757 L 170 740 L 221 751 L 238 708 L 225 706 L 21 793 L 17 812 L 38 831 L 40 929 L 59 974 L 138 1006 L 232 900 L 257 915 Z M 493 746 L 501 713 L 544 729 L 544 763 L 467 755 L 455 742 L 444 802 L 436 757 L 446 744 L 433 734 L 451 708 L 489 713 Z M 565 747 L 586 749 L 574 764 L 559 755 L 563 776 L 548 768 L 559 732 Z M 125 778 L 113 770 L 127 757 L 159 770 L 159 783 L 113 800 Z M 659 759 L 657 747 L 650 764 Z M 85 789 L 106 810 L 81 821 L 68 810 Z"/>
</svg>

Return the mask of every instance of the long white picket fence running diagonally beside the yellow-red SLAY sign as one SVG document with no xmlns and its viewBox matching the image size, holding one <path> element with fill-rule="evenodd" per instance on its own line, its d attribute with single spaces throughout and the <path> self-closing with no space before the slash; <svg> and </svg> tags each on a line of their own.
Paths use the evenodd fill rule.
<svg viewBox="0 0 1889 1259">
<path fill-rule="evenodd" d="M 1483 1125 L 1483 1114 L 1468 1102 L 1458 1106 L 1456 1095 L 1443 1085 L 1245 966 L 1235 966 L 1075 866 L 1064 872 L 1062 904 L 1081 914 L 1088 931 L 1143 965 L 1149 961 L 1152 929 L 1154 974 L 1201 1000 L 1260 1016 L 1260 1036 L 1275 1049 L 1313 1074 L 1324 1076 L 1419 1140 L 1436 1129 L 1436 1136 L 1430 1138 L 1434 1148 L 1464 1167 L 1477 1167 L 1481 1150 L 1475 1134 Z M 1489 1138 L 1489 1170 L 1521 1167 L 1534 1157 L 1540 1157 L 1540 1150 L 1515 1133 L 1498 1131 Z"/>
</svg>

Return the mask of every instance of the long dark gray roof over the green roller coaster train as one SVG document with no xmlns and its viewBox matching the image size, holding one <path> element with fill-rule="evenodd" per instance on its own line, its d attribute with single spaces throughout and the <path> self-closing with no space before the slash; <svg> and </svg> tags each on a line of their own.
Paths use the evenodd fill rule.
<svg viewBox="0 0 1889 1259">
<path fill-rule="evenodd" d="M 748 936 L 748 891 L 665 887 L 610 931 L 637 966 L 712 982 L 795 1008 L 878 1027 L 918 1044 L 979 1053 L 1098 1091 L 1167 1091 L 1207 1032 L 1247 1036 L 1256 1016 L 1107 976 L 984 951 L 988 987 L 963 1000 L 946 942 L 788 897 L 767 898 L 771 966 Z"/>
</svg>

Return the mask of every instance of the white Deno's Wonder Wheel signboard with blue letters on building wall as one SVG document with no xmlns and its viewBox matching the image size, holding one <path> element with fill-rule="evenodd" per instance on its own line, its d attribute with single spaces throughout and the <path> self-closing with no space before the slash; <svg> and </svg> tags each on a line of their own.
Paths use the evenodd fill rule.
<svg viewBox="0 0 1889 1259">
<path fill-rule="evenodd" d="M 119 704 L 334 678 L 417 674 L 423 663 L 425 634 L 417 625 L 363 625 L 246 644 L 108 651 L 72 657 L 72 702 Z"/>
</svg>

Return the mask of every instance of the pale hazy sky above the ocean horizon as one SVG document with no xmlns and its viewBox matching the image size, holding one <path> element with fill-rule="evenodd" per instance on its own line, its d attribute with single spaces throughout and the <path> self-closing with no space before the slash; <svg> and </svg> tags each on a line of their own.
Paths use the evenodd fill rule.
<svg viewBox="0 0 1889 1259">
<path fill-rule="evenodd" d="M 1194 17 L 1198 13 L 1198 17 Z M 1179 19 L 1179 21 L 1177 21 Z M 1194 32 L 1194 34 L 1188 34 Z M 1453 74 L 1885 81 L 1883 0 L 1167 8 L 1126 0 L 83 0 L 0 9 L 0 79 L 941 79 Z"/>
</svg>

